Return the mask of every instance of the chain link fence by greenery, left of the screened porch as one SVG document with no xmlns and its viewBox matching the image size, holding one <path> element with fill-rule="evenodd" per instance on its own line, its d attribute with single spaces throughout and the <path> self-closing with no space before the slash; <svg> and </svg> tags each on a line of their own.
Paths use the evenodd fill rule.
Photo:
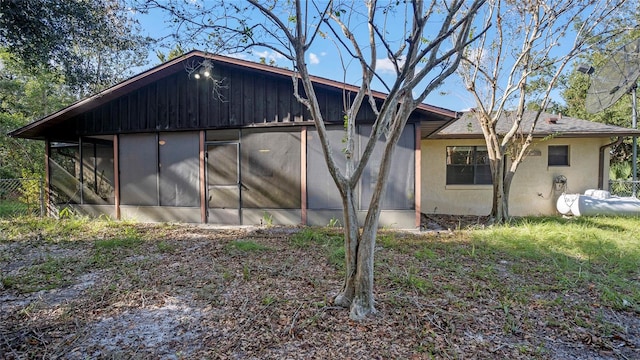
<svg viewBox="0 0 640 360">
<path fill-rule="evenodd" d="M 0 179 L 0 218 L 44 215 L 42 179 Z"/>
</svg>

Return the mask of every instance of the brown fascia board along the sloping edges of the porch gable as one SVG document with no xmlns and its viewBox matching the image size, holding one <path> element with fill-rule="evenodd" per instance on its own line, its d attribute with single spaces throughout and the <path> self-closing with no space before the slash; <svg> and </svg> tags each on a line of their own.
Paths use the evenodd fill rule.
<svg viewBox="0 0 640 360">
<path fill-rule="evenodd" d="M 45 123 L 48 123 L 51 121 L 55 121 L 54 123 L 59 123 L 59 122 L 68 120 L 69 118 L 75 115 L 78 115 L 84 111 L 89 111 L 91 109 L 94 109 L 108 101 L 111 101 L 119 96 L 126 95 L 162 77 L 171 75 L 180 70 L 184 70 L 184 66 L 182 65 L 182 63 L 193 57 L 201 57 L 204 59 L 213 60 L 214 62 L 218 61 L 220 63 L 224 63 L 227 65 L 237 66 L 241 68 L 249 68 L 249 69 L 259 70 L 259 71 L 282 75 L 282 76 L 292 77 L 295 74 L 293 71 L 289 69 L 283 69 L 283 68 L 278 68 L 278 67 L 274 67 L 266 64 L 242 60 L 238 58 L 214 55 L 214 54 L 206 53 L 199 50 L 193 50 L 178 58 L 175 58 L 173 60 L 170 60 L 160 65 L 157 65 L 147 71 L 144 71 L 136 76 L 133 76 L 93 96 L 77 101 L 67 106 L 66 108 L 63 108 L 55 113 L 47 115 L 34 122 L 31 122 L 19 129 L 13 130 L 10 133 L 8 133 L 8 135 L 11 137 L 20 137 L 21 134 L 24 134 L 25 132 L 28 132 L 29 130 L 37 128 Z M 347 90 L 352 92 L 357 92 L 359 90 L 359 87 L 355 85 L 349 85 L 346 83 L 341 83 L 338 81 L 325 79 L 317 76 L 310 76 L 310 78 L 312 82 L 316 84 L 321 84 L 331 88 Z M 386 97 L 386 94 L 378 91 L 372 91 L 372 94 L 374 97 L 377 97 L 380 99 L 384 99 Z M 428 104 L 420 104 L 417 107 L 417 109 L 436 114 L 440 117 L 447 118 L 449 119 L 449 121 L 447 121 L 447 124 L 449 124 L 451 121 L 455 120 L 458 117 L 458 113 L 455 111 L 433 106 L 433 105 L 428 105 Z"/>
</svg>

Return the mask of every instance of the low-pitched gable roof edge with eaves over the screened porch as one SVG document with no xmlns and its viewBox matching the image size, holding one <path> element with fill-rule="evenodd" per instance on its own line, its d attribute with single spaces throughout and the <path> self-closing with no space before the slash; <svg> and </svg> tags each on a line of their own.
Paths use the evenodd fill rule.
<svg viewBox="0 0 640 360">
<path fill-rule="evenodd" d="M 194 50 L 166 63 L 155 66 L 138 75 L 135 75 L 93 96 L 75 102 L 67 106 L 66 108 L 49 114 L 39 120 L 33 121 L 19 129 L 10 132 L 8 135 L 12 137 L 29 139 L 45 139 L 47 130 L 52 129 L 56 125 L 72 119 L 79 114 L 96 109 L 109 101 L 113 101 L 119 97 L 130 94 L 135 90 L 158 81 L 159 79 L 165 78 L 179 71 L 185 71 L 185 64 L 187 64 L 188 61 L 194 61 L 198 59 L 209 59 L 214 63 L 218 62 L 230 66 L 248 68 L 268 73 L 273 76 L 291 78 L 291 76 L 294 75 L 294 72 L 288 69 Z M 311 76 L 311 80 L 313 81 L 314 85 L 333 88 L 336 91 L 347 90 L 355 92 L 358 90 L 357 86 L 321 77 Z M 374 97 L 379 99 L 384 99 L 386 97 L 386 94 L 377 91 L 374 91 L 373 95 Z M 423 121 L 421 124 L 423 137 L 426 137 L 433 132 L 441 129 L 458 117 L 458 113 L 455 111 L 427 104 L 419 105 L 416 111 L 428 114 L 430 118 L 430 121 Z"/>
</svg>

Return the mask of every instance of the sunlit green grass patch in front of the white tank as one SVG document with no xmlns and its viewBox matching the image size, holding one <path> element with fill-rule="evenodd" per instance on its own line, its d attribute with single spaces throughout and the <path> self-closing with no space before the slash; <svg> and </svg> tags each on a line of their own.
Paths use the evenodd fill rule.
<svg viewBox="0 0 640 360">
<path fill-rule="evenodd" d="M 535 271 L 549 286 L 591 288 L 604 305 L 640 309 L 638 218 L 525 218 L 474 230 L 470 237 L 494 257 L 527 264 L 519 272 Z"/>
</svg>

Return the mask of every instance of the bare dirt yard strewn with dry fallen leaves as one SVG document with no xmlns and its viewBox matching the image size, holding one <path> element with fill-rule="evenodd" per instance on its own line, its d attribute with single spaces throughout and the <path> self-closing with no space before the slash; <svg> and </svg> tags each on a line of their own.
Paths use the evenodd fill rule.
<svg viewBox="0 0 640 360">
<path fill-rule="evenodd" d="M 445 243 L 454 241 L 447 229 L 479 222 L 426 220 L 438 232 L 424 241 Z M 484 263 L 439 270 L 430 259 L 446 256 L 440 248 L 416 261 L 380 247 L 378 313 L 354 322 L 331 303 L 341 278 L 322 255 L 328 242 L 296 246 L 299 231 L 178 226 L 104 251 L 91 241 L 2 241 L 3 277 L 29 279 L 37 267 L 37 281 L 58 285 L 0 288 L 0 358 L 640 358 L 638 313 L 600 306 L 589 289 L 509 299 L 483 283 Z M 512 273 L 513 261 L 491 267 L 505 287 L 544 281 Z"/>
</svg>

